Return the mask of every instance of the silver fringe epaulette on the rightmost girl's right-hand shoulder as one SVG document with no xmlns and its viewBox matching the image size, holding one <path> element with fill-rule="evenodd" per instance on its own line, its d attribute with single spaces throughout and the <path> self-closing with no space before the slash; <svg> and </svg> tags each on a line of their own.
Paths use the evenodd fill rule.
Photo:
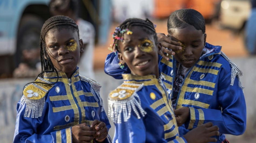
<svg viewBox="0 0 256 143">
<path fill-rule="evenodd" d="M 229 62 L 230 66 L 231 66 L 231 83 L 230 83 L 230 85 L 234 85 L 234 81 L 237 76 L 237 79 L 239 81 L 239 87 L 241 87 L 241 89 L 243 89 L 244 87 L 242 86 L 242 82 L 240 80 L 240 76 L 243 76 L 243 72 L 240 70 L 240 68 L 236 64 L 234 64 L 226 56 L 226 54 L 224 54 L 222 51 L 220 52 L 220 54 Z"/>
</svg>

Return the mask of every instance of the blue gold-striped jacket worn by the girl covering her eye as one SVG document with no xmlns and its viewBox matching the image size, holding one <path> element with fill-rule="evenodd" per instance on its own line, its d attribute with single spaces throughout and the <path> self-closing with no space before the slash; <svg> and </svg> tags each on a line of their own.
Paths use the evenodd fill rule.
<svg viewBox="0 0 256 143">
<path fill-rule="evenodd" d="M 190 109 L 190 119 L 179 127 L 179 135 L 182 136 L 203 123 L 212 122 L 219 127 L 217 142 L 222 142 L 225 139 L 224 134 L 241 135 L 245 131 L 246 105 L 240 81 L 242 72 L 220 51 L 221 46 L 206 43 L 205 48 L 212 52 L 200 57 L 185 75 L 174 103 L 175 109 Z M 159 69 L 171 98 L 177 60 L 172 55 L 169 55 L 169 58 L 167 61 L 159 56 Z M 106 74 L 122 79 L 121 74 L 124 71 L 129 72 L 129 68 L 119 68 L 119 61 L 116 59 L 117 56 L 110 53 L 106 58 L 104 70 Z M 147 95 L 148 93 L 145 93 L 145 96 Z"/>
</svg>

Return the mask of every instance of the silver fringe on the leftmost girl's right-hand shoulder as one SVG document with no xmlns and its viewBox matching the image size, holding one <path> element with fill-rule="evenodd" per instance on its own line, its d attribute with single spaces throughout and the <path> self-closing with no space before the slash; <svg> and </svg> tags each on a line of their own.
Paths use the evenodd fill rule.
<svg viewBox="0 0 256 143">
<path fill-rule="evenodd" d="M 93 80 L 93 79 L 91 79 L 91 78 L 87 78 L 87 77 L 85 77 L 85 76 L 82 76 L 82 75 L 79 75 L 79 77 L 80 77 L 80 80 L 82 80 L 82 81 L 85 81 L 85 82 L 88 82 L 90 85 L 91 85 L 91 93 L 92 93 L 92 95 L 93 95 L 93 97 L 94 97 L 94 99 L 98 102 L 99 101 L 99 103 L 100 103 L 100 105 L 101 105 L 101 112 L 102 111 L 104 111 L 104 108 L 103 108 L 103 100 L 101 99 L 101 96 L 99 95 L 99 92 L 100 92 L 100 89 L 101 89 L 101 85 L 96 81 L 96 80 Z M 94 92 L 95 91 L 95 92 Z M 96 95 L 95 95 L 95 93 L 96 93 L 96 95 L 98 96 L 98 98 L 96 97 Z"/>
</svg>

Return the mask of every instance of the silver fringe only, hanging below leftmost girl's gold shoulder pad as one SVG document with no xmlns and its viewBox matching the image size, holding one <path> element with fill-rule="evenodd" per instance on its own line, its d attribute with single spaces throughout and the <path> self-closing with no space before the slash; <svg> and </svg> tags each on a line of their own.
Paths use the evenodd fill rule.
<svg viewBox="0 0 256 143">
<path fill-rule="evenodd" d="M 26 109 L 24 117 L 38 118 L 42 116 L 44 109 L 45 97 L 37 100 L 31 100 L 26 96 L 22 96 L 20 103 L 24 105 L 26 103 Z"/>
</svg>

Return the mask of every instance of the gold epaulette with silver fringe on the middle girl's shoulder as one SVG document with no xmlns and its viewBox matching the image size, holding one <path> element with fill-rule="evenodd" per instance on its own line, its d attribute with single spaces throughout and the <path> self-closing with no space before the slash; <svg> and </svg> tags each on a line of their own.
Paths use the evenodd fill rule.
<svg viewBox="0 0 256 143">
<path fill-rule="evenodd" d="M 143 117 L 147 114 L 141 107 L 140 97 L 137 94 L 137 91 L 139 91 L 143 85 L 143 83 L 123 83 L 110 92 L 108 97 L 108 116 L 114 123 L 122 123 L 122 117 L 123 121 L 127 122 L 131 117 L 132 110 L 135 112 L 138 119 L 141 118 L 140 114 Z"/>
</svg>

